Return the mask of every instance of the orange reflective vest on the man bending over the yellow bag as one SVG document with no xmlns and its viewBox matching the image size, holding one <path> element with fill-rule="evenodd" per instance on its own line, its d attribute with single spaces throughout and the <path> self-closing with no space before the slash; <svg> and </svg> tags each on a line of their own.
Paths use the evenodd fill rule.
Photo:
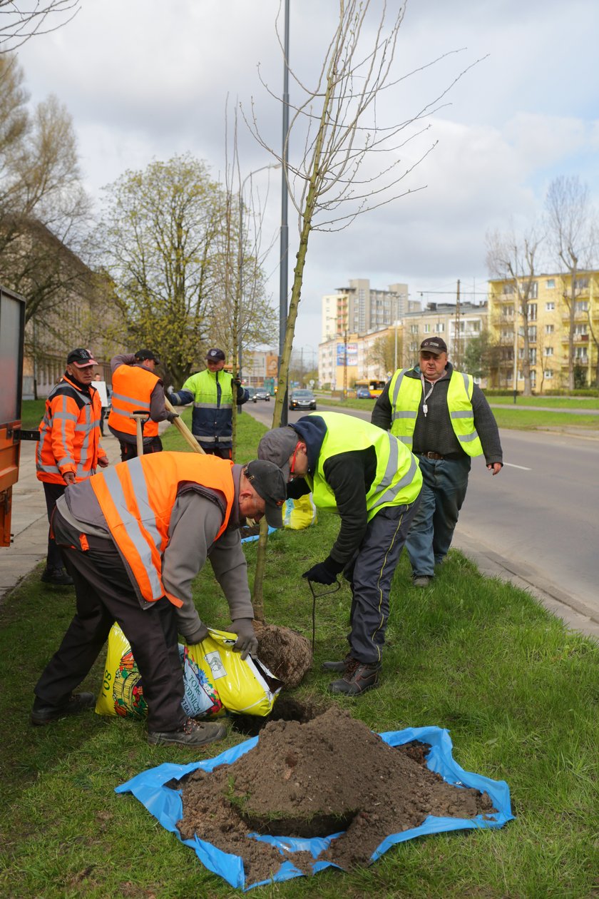
<svg viewBox="0 0 599 899">
<path fill-rule="evenodd" d="M 162 582 L 162 555 L 169 540 L 172 507 L 182 482 L 217 490 L 225 497 L 225 530 L 233 508 L 233 462 L 186 452 L 152 453 L 119 462 L 93 476 L 90 484 L 100 503 L 112 539 L 137 581 L 145 601 L 168 596 Z"/>
</svg>

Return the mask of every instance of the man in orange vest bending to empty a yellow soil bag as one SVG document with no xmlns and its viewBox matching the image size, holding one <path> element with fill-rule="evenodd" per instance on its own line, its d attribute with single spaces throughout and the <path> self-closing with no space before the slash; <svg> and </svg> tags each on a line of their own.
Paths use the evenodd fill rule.
<svg viewBox="0 0 599 899">
<path fill-rule="evenodd" d="M 35 687 L 31 723 L 91 708 L 74 694 L 118 621 L 131 645 L 148 707 L 148 743 L 202 746 L 225 725 L 186 717 L 178 631 L 199 643 L 191 582 L 207 556 L 231 612 L 234 648 L 255 653 L 251 596 L 239 528 L 246 516 L 283 524 L 286 484 L 275 465 L 246 466 L 195 453 L 163 452 L 120 462 L 69 487 L 52 527 L 75 582 L 76 611 Z"/>
</svg>

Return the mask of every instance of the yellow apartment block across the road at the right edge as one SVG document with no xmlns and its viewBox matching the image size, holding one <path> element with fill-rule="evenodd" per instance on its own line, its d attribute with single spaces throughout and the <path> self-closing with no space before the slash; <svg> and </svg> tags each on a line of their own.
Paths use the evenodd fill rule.
<svg viewBox="0 0 599 899">
<path fill-rule="evenodd" d="M 522 292 L 528 280 L 522 279 Z M 572 279 L 568 274 L 541 274 L 534 278 L 529 290 L 526 322 L 524 324 L 524 316 L 518 311 L 515 324 L 515 281 L 489 281 L 489 331 L 500 348 L 498 366 L 492 373 L 492 387 L 524 388 L 524 326 L 528 333 L 533 390 L 542 393 L 568 386 L 571 288 Z M 593 385 L 598 369 L 599 271 L 584 271 L 577 275 L 573 338 L 575 386 Z"/>
</svg>

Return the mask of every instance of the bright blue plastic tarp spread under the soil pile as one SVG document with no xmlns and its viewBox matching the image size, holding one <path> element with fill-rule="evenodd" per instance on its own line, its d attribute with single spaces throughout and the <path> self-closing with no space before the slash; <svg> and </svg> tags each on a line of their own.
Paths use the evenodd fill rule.
<svg viewBox="0 0 599 899">
<path fill-rule="evenodd" d="M 447 783 L 453 784 L 457 788 L 473 787 L 480 790 L 481 793 L 488 793 L 497 812 L 485 814 L 484 816 L 479 814 L 475 818 L 439 818 L 434 815 L 428 815 L 419 827 L 413 827 L 409 831 L 402 831 L 401 833 L 392 833 L 386 837 L 374 851 L 372 855 L 373 861 L 398 842 L 413 840 L 415 837 L 425 836 L 427 833 L 482 827 L 503 827 L 505 823 L 511 821 L 514 817 L 510 805 L 509 788 L 505 780 L 491 780 L 480 774 L 464 771 L 454 761 L 452 755 L 453 746 L 448 731 L 441 727 L 432 726 L 406 727 L 401 731 L 387 731 L 380 735 L 384 742 L 389 743 L 391 746 L 400 746 L 401 743 L 410 743 L 411 740 L 428 743 L 431 746 L 430 752 L 427 754 L 428 769 L 436 771 Z M 198 768 L 211 771 L 217 765 L 233 764 L 233 761 L 239 759 L 245 752 L 249 752 L 258 743 L 258 740 L 259 737 L 252 737 L 251 740 L 246 740 L 238 746 L 233 746 L 233 749 L 221 752 L 215 759 L 192 761 L 189 765 L 170 763 L 159 765 L 157 768 L 151 768 L 143 771 L 141 774 L 137 774 L 135 778 L 117 787 L 115 792 L 133 793 L 167 831 L 172 831 L 181 840 L 181 835 L 176 826 L 183 814 L 181 791 L 165 787 L 164 785 L 172 779 L 180 780 L 186 774 L 189 774 L 190 771 Z M 329 837 L 323 839 L 316 837 L 313 839 L 296 839 L 294 837 L 260 836 L 260 834 L 254 833 L 251 834 L 249 839 L 269 842 L 277 846 L 282 853 L 285 853 L 286 860 L 277 871 L 277 874 L 272 877 L 272 880 L 280 881 L 302 876 L 302 871 L 295 868 L 292 861 L 288 860 L 288 852 L 307 851 L 312 853 L 313 859 L 316 859 L 322 850 L 329 846 L 330 841 L 337 836 L 339 836 L 339 833 L 332 833 Z M 230 855 L 216 849 L 216 846 L 200 840 L 198 836 L 194 836 L 193 840 L 183 840 L 182 842 L 195 850 L 198 859 L 206 868 L 214 871 L 220 877 L 224 877 L 231 886 L 245 890 L 251 889 L 252 886 L 263 886 L 270 883 L 270 880 L 265 880 L 246 887 L 243 860 L 240 856 Z M 329 861 L 315 861 L 313 873 L 316 874 L 330 865 Z"/>
</svg>

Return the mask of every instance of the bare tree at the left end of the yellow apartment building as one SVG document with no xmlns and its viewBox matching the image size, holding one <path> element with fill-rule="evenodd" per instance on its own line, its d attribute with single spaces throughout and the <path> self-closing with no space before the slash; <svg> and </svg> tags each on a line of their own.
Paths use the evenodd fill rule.
<svg viewBox="0 0 599 899">
<path fill-rule="evenodd" d="M 514 289 L 514 389 L 518 360 L 519 332 L 522 331 L 522 374 L 524 378 L 524 396 L 532 396 L 531 385 L 531 352 L 530 322 L 536 320 L 532 316 L 531 303 L 536 298 L 536 260 L 542 236 L 535 227 L 531 227 L 522 236 L 516 236 L 514 228 L 506 234 L 498 231 L 487 235 L 487 265 L 496 278 L 507 280 Z M 520 322 L 522 321 L 522 329 Z"/>
</svg>

